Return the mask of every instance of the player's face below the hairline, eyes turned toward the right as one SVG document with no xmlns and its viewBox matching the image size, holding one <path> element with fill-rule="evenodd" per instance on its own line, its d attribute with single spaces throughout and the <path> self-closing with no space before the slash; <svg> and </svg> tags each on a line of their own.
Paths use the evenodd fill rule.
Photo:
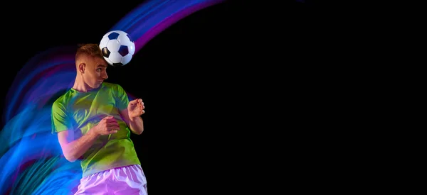
<svg viewBox="0 0 427 195">
<path fill-rule="evenodd" d="M 86 87 L 96 89 L 108 78 L 107 62 L 100 57 L 88 57 L 87 59 L 83 80 Z"/>
</svg>

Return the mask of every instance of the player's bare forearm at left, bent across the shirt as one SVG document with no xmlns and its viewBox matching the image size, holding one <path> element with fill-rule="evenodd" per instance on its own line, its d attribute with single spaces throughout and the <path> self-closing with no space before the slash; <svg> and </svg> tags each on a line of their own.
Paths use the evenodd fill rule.
<svg viewBox="0 0 427 195">
<path fill-rule="evenodd" d="M 78 160 L 79 157 L 89 150 L 98 137 L 99 135 L 97 135 L 93 130 L 89 130 L 88 133 L 82 137 L 68 143 L 63 151 L 65 158 L 70 162 Z"/>
</svg>

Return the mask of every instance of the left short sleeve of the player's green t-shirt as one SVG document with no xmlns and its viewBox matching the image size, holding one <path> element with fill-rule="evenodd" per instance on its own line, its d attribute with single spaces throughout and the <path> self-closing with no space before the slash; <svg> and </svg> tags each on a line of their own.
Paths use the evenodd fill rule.
<svg viewBox="0 0 427 195">
<path fill-rule="evenodd" d="M 70 120 L 68 120 L 68 113 L 65 110 L 63 104 L 55 101 L 52 104 L 52 133 L 58 133 L 60 131 L 72 129 Z"/>
</svg>

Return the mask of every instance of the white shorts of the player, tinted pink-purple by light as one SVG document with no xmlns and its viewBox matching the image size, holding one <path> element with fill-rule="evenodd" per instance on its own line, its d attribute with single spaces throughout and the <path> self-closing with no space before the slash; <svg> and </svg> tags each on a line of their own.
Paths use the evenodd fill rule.
<svg viewBox="0 0 427 195">
<path fill-rule="evenodd" d="M 147 179 L 140 165 L 118 167 L 80 179 L 75 195 L 147 195 Z"/>
</svg>

